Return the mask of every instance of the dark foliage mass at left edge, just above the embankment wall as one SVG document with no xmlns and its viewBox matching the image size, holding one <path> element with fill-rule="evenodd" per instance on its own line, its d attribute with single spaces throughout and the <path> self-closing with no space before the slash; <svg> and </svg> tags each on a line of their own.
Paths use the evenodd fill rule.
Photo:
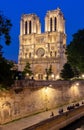
<svg viewBox="0 0 84 130">
<path fill-rule="evenodd" d="M 0 45 L 0 86 L 7 88 L 14 83 L 12 68 L 14 63 L 3 57 L 2 46 Z"/>
</svg>

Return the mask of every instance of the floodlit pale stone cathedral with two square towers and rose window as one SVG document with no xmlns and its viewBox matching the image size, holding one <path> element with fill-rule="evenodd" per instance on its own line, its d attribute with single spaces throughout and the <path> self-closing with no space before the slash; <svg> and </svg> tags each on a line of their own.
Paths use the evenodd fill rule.
<svg viewBox="0 0 84 130">
<path fill-rule="evenodd" d="M 19 40 L 19 71 L 23 71 L 29 62 L 34 79 L 45 80 L 46 69 L 50 66 L 50 79 L 59 78 L 66 62 L 65 19 L 59 8 L 46 13 L 44 33 L 41 32 L 40 19 L 36 14 L 22 15 Z"/>
</svg>

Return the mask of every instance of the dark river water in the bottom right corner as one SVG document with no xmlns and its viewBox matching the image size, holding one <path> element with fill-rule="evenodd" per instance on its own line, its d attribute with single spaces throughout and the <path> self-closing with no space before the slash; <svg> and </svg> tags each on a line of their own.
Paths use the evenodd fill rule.
<svg viewBox="0 0 84 130">
<path fill-rule="evenodd" d="M 80 118 L 79 120 L 61 130 L 84 130 L 84 117 Z"/>
</svg>

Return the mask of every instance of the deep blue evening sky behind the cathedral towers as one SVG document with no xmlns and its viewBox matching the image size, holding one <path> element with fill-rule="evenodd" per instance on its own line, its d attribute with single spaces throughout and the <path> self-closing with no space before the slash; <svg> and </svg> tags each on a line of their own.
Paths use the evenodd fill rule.
<svg viewBox="0 0 84 130">
<path fill-rule="evenodd" d="M 36 13 L 40 17 L 42 32 L 44 31 L 44 17 L 48 10 L 59 7 L 66 20 L 67 44 L 72 40 L 72 34 L 84 28 L 84 0 L 0 0 L 0 11 L 13 24 L 11 30 L 12 42 L 6 46 L 3 39 L 4 56 L 6 59 L 18 61 L 20 18 L 22 14 Z"/>
</svg>

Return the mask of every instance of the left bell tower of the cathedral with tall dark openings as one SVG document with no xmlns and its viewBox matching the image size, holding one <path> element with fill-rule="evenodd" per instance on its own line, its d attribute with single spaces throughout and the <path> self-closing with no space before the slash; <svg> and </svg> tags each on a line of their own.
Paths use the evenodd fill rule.
<svg viewBox="0 0 84 130">
<path fill-rule="evenodd" d="M 41 33 L 39 18 L 35 14 L 25 14 L 22 16 L 20 22 L 20 36 L 33 33 Z"/>
</svg>

